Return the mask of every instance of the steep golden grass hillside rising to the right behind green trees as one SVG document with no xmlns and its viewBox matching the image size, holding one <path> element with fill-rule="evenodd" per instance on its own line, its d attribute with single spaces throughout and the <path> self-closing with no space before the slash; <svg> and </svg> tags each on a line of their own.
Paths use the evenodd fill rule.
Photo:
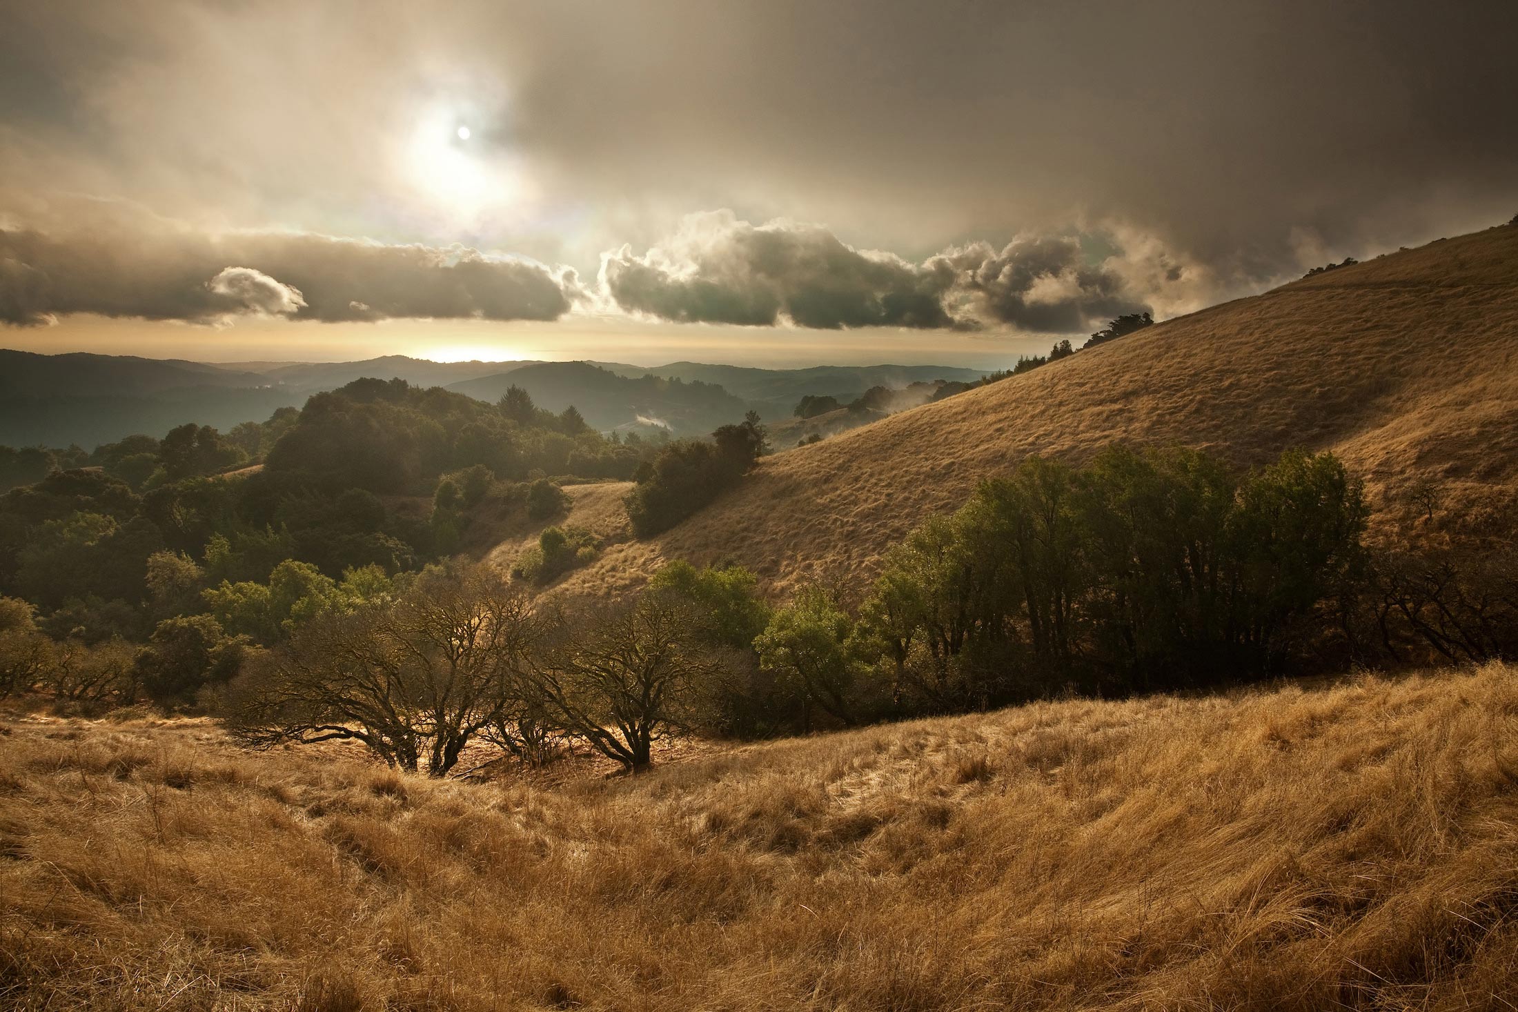
<svg viewBox="0 0 1518 1012">
<path fill-rule="evenodd" d="M 668 558 L 732 558 L 782 592 L 868 574 L 981 478 L 1114 442 L 1205 446 L 1240 466 L 1331 449 L 1366 478 L 1380 522 L 1435 478 L 1479 523 L 1518 486 L 1518 228 L 1296 281 L 776 454 L 648 542 L 606 513 L 616 489 L 586 492 L 594 519 L 571 522 L 619 543 L 566 583 L 616 593 Z"/>
</svg>

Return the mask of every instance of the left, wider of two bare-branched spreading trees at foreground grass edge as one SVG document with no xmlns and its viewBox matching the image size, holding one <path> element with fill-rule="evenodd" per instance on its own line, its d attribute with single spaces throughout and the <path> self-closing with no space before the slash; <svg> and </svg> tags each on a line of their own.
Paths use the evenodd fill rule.
<svg viewBox="0 0 1518 1012">
<path fill-rule="evenodd" d="M 395 602 L 308 622 L 247 666 L 225 699 L 254 746 L 363 742 L 390 766 L 442 777 L 522 699 L 537 621 L 484 566 L 419 575 Z"/>
</svg>

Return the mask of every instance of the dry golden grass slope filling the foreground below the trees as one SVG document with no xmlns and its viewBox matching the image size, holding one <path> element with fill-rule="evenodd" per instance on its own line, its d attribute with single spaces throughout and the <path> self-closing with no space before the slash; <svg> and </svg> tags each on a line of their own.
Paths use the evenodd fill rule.
<svg viewBox="0 0 1518 1012">
<path fill-rule="evenodd" d="M 1518 669 L 553 789 L 0 734 L 0 1006 L 1518 1007 Z"/>
</svg>

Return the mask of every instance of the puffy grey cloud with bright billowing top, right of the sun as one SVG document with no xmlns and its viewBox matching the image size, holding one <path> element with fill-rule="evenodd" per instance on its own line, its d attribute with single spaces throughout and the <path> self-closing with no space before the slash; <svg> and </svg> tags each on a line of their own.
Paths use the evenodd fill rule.
<svg viewBox="0 0 1518 1012">
<path fill-rule="evenodd" d="M 642 256 L 625 246 L 604 253 L 601 285 L 627 313 L 680 323 L 1075 334 L 1151 308 L 1113 266 L 1088 264 L 1073 238 L 975 243 L 911 264 L 815 225 L 754 226 L 727 211 L 692 215 Z"/>
</svg>

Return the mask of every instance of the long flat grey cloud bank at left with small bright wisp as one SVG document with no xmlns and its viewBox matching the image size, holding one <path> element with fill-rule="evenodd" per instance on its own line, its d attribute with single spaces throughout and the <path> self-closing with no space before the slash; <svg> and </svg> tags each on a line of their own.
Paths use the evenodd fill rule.
<svg viewBox="0 0 1518 1012">
<path fill-rule="evenodd" d="M 572 272 L 465 247 L 387 246 L 285 232 L 203 235 L 147 225 L 53 235 L 0 229 L 0 322 L 68 313 L 214 322 L 386 317 L 554 320 Z"/>
</svg>

